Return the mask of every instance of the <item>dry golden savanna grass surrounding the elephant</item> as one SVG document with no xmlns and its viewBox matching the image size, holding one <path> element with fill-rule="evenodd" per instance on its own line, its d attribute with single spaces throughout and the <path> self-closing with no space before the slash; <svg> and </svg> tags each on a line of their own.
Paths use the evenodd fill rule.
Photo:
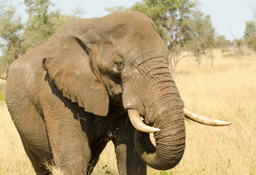
<svg viewBox="0 0 256 175">
<path fill-rule="evenodd" d="M 232 125 L 185 120 L 186 149 L 179 165 L 168 171 L 148 168 L 148 174 L 256 175 L 256 55 L 235 58 L 232 50 L 214 50 L 214 66 L 205 58 L 200 69 L 193 59 L 183 59 L 174 76 L 185 106 Z M 34 174 L 4 102 L 0 121 L 0 174 Z M 109 143 L 93 174 L 118 174 L 115 161 Z M 61 173 L 54 169 L 53 174 Z"/>
</svg>

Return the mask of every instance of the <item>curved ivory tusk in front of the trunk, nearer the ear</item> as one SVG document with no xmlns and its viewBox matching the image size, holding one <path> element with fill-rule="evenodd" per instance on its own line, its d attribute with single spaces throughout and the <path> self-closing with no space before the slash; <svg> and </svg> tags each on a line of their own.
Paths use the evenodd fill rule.
<svg viewBox="0 0 256 175">
<path fill-rule="evenodd" d="M 144 124 L 141 121 L 141 117 L 139 116 L 138 111 L 136 111 L 134 109 L 128 109 L 127 111 L 128 111 L 129 118 L 131 120 L 131 124 L 133 124 L 133 126 L 134 126 L 134 128 L 136 128 L 136 130 L 144 132 L 144 133 L 155 133 L 157 131 L 160 131 L 160 129 L 158 129 L 158 128 L 154 128 L 154 127 Z"/>
</svg>

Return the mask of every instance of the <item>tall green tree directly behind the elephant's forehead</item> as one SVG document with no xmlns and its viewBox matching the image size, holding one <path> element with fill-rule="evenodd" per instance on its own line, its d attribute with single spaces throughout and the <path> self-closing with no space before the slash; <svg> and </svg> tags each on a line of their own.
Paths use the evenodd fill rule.
<svg viewBox="0 0 256 175">
<path fill-rule="evenodd" d="M 168 46 L 171 71 L 176 74 L 180 54 L 187 41 L 190 12 L 195 7 L 192 0 L 143 0 L 131 7 L 131 11 L 143 12 L 154 21 L 158 34 Z"/>
</svg>

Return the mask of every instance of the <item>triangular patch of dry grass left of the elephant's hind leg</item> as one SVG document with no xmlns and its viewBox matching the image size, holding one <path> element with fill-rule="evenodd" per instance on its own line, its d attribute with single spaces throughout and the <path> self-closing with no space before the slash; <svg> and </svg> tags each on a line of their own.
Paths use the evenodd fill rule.
<svg viewBox="0 0 256 175">
<path fill-rule="evenodd" d="M 6 104 L 0 106 L 0 174 L 34 174 Z"/>
</svg>

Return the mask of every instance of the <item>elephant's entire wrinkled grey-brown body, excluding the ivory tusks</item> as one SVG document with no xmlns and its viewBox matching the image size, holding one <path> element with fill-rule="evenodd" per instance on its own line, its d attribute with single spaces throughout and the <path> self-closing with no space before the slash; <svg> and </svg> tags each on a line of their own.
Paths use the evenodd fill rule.
<svg viewBox="0 0 256 175">
<path fill-rule="evenodd" d="M 48 174 L 46 161 L 66 174 L 88 174 L 108 141 L 120 174 L 147 174 L 146 163 L 176 166 L 185 123 L 167 57 L 150 18 L 117 12 L 68 23 L 12 63 L 7 106 L 36 174 Z M 148 134 L 134 134 L 127 109 L 160 128 L 156 147 Z"/>
</svg>

